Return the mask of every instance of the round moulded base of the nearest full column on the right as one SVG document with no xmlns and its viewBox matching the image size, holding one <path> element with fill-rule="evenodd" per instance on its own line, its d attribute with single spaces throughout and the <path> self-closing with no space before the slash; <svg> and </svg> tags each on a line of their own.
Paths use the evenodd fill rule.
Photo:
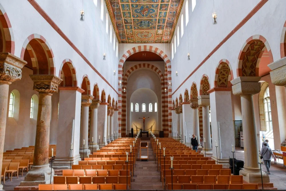
<svg viewBox="0 0 286 191">
<path fill-rule="evenodd" d="M 239 175 L 243 175 L 243 180 L 249 183 L 261 183 L 261 173 L 259 168 L 244 168 L 239 171 Z M 270 182 L 268 174 L 266 174 L 264 171 L 262 171 L 262 179 L 263 184 Z"/>
</svg>

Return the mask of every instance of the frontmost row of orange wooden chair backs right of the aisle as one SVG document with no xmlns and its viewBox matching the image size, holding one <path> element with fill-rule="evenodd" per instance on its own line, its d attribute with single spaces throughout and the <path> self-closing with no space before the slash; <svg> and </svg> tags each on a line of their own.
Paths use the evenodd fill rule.
<svg viewBox="0 0 286 191">
<path fill-rule="evenodd" d="M 172 189 L 173 188 L 173 189 Z M 258 184 L 167 184 L 168 190 L 258 190 Z"/>
</svg>

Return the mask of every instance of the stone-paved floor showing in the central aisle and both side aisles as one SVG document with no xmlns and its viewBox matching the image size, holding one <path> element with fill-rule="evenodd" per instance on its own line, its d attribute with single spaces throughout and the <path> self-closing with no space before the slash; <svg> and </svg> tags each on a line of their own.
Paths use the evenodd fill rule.
<svg viewBox="0 0 286 191">
<path fill-rule="evenodd" d="M 145 140 L 144 140 L 145 141 Z M 154 155 L 150 148 L 149 142 L 149 160 L 140 161 L 138 153 L 138 161 L 136 162 L 136 168 L 134 171 L 134 178 L 132 181 L 132 190 L 163 190 L 162 182 L 160 182 L 160 170 L 157 171 L 157 164 L 155 164 Z M 147 155 L 147 151 L 143 151 L 142 155 Z M 243 149 L 236 148 L 236 158 L 244 161 L 244 151 Z M 160 167 L 159 167 L 160 168 Z M 263 170 L 265 166 L 262 166 Z M 271 161 L 270 167 L 271 175 L 270 182 L 274 184 L 274 187 L 277 189 L 286 188 L 286 167 L 283 167 L 283 160 L 277 160 L 277 164 L 274 164 L 274 160 Z M 14 190 L 15 186 L 18 186 L 21 181 L 24 180 L 25 174 L 19 175 L 19 178 L 13 177 L 12 181 L 6 179 L 5 185 L 3 185 L 4 190 Z M 3 182 L 1 182 L 3 184 Z"/>
</svg>

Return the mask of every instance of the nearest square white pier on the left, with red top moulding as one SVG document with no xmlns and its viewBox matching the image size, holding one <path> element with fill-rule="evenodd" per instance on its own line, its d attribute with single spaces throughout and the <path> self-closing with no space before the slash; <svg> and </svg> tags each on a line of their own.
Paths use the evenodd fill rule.
<svg viewBox="0 0 286 191">
<path fill-rule="evenodd" d="M 57 154 L 54 169 L 69 169 L 80 161 L 80 108 L 83 89 L 59 87 L 59 119 L 57 124 Z M 67 112 L 69 111 L 69 112 Z M 74 121 L 74 127 L 73 127 Z M 72 154 L 71 154 L 72 143 Z M 72 156 L 71 156 L 72 155 Z"/>
</svg>

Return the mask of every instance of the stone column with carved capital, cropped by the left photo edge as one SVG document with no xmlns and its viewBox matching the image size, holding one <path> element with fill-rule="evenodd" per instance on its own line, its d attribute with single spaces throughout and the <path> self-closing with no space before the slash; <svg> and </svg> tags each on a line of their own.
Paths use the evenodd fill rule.
<svg viewBox="0 0 286 191">
<path fill-rule="evenodd" d="M 27 62 L 10 53 L 0 53 L 0 172 L 2 169 L 3 149 L 6 129 L 9 85 L 22 78 L 22 68 Z M 0 190 L 3 185 L 0 184 Z"/>
</svg>

